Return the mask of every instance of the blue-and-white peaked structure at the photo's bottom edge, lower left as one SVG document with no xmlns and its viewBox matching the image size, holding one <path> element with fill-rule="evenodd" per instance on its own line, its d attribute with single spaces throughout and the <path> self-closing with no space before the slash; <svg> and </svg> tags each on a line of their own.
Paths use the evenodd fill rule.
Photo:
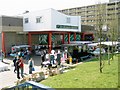
<svg viewBox="0 0 120 90">
<path fill-rule="evenodd" d="M 55 89 L 47 87 L 40 83 L 36 83 L 34 81 L 28 81 L 23 84 L 7 88 L 4 90 L 55 90 Z"/>
</svg>

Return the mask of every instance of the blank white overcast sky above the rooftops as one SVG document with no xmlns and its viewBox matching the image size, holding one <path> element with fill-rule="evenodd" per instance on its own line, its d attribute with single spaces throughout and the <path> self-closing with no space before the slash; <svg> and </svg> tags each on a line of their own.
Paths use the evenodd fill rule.
<svg viewBox="0 0 120 90">
<path fill-rule="evenodd" d="M 0 0 L 0 15 L 19 15 L 47 8 L 56 10 L 93 5 L 109 0 Z"/>
</svg>

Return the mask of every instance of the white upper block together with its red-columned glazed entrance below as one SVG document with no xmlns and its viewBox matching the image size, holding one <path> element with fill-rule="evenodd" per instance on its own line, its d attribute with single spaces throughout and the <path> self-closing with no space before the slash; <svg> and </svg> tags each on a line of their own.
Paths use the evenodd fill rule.
<svg viewBox="0 0 120 90">
<path fill-rule="evenodd" d="M 68 43 L 71 37 L 76 40 L 76 34 L 81 32 L 81 18 L 51 8 L 29 12 L 23 15 L 23 31 L 28 32 L 30 46 L 44 44 L 50 52 L 54 46 L 59 45 L 58 42 L 64 43 L 65 38 Z"/>
</svg>

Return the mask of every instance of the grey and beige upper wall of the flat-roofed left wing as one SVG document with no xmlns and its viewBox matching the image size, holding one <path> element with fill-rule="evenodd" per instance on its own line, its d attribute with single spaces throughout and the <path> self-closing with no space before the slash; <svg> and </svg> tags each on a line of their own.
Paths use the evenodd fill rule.
<svg viewBox="0 0 120 90">
<path fill-rule="evenodd" d="M 0 17 L 0 32 L 22 32 L 23 19 L 20 17 Z"/>
</svg>

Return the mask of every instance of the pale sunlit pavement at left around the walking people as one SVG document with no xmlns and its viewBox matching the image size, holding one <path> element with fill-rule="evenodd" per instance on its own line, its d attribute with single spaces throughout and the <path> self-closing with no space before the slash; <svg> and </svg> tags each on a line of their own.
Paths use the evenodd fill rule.
<svg viewBox="0 0 120 90">
<path fill-rule="evenodd" d="M 34 56 L 32 57 L 34 60 L 34 68 L 35 71 L 41 70 L 41 57 Z M 15 82 L 17 79 L 17 74 L 14 73 L 14 66 L 13 66 L 13 58 L 5 58 L 3 61 L 8 65 L 9 70 L 0 72 L 0 90 L 4 87 L 15 86 Z M 28 68 L 28 61 L 25 60 L 24 62 L 24 74 L 29 75 L 29 68 Z"/>
</svg>

